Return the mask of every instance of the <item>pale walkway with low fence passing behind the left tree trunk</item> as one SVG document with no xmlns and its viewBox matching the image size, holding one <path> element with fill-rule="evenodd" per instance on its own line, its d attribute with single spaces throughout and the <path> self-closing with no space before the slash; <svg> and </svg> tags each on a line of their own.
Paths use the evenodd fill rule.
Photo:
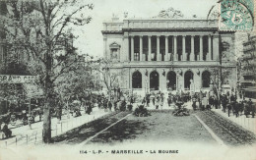
<svg viewBox="0 0 256 160">
<path fill-rule="evenodd" d="M 51 119 L 51 134 L 52 136 L 56 136 L 62 133 L 66 133 L 70 130 L 73 130 L 83 124 L 92 122 L 97 118 L 100 118 L 104 115 L 107 115 L 108 112 L 105 112 L 103 109 L 94 108 L 91 115 L 85 114 L 82 112 L 82 116 L 73 117 L 71 114 L 68 118 L 67 115 L 62 116 L 62 121 L 58 122 L 57 118 Z M 36 121 L 36 119 L 35 119 Z M 16 146 L 16 145 L 34 145 L 41 144 L 42 142 L 42 121 L 33 123 L 32 129 L 28 125 L 21 126 L 19 128 L 14 128 L 10 126 L 13 137 L 8 139 L 1 139 L 0 145 L 1 147 L 7 146 Z"/>
</svg>

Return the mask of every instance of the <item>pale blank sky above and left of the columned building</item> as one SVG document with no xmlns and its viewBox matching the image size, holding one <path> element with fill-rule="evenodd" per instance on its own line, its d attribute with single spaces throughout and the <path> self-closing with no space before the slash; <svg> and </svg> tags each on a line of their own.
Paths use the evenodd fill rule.
<svg viewBox="0 0 256 160">
<path fill-rule="evenodd" d="M 112 15 L 120 20 L 123 13 L 128 12 L 128 18 L 152 18 L 159 14 L 160 10 L 170 7 L 179 10 L 185 18 L 206 18 L 217 0 L 88 0 L 95 5 L 94 10 L 85 11 L 93 18 L 92 22 L 84 27 L 75 29 L 74 34 L 79 36 L 74 45 L 80 54 L 90 54 L 96 57 L 103 55 L 102 23 L 109 21 Z"/>
</svg>

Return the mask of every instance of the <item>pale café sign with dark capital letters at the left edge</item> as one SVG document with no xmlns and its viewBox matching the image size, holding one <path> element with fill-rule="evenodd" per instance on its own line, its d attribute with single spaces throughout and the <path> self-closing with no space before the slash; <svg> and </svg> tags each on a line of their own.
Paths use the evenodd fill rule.
<svg viewBox="0 0 256 160">
<path fill-rule="evenodd" d="M 38 79 L 38 76 L 0 75 L 0 83 L 32 83 Z"/>
</svg>

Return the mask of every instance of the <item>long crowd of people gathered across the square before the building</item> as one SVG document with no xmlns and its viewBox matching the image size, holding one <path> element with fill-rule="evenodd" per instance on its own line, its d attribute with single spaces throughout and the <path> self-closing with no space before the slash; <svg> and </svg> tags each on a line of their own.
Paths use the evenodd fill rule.
<svg viewBox="0 0 256 160">
<path fill-rule="evenodd" d="M 99 109 L 104 109 L 107 111 L 132 111 L 133 107 L 135 108 L 136 104 L 143 105 L 144 107 L 154 106 L 156 109 L 162 109 L 163 105 L 170 107 L 171 105 L 178 106 L 178 104 L 184 104 L 185 102 L 192 102 L 192 108 L 194 110 L 210 110 L 212 108 L 220 109 L 222 108 L 223 112 L 227 112 L 228 117 L 232 113 L 236 117 L 245 115 L 248 118 L 250 115 L 252 118 L 255 116 L 255 105 L 252 100 L 240 99 L 237 100 L 235 94 L 210 94 L 210 92 L 199 92 L 199 93 L 184 93 L 177 92 L 176 94 L 168 93 L 164 94 L 162 92 L 146 94 L 143 98 L 138 98 L 134 95 L 123 95 L 121 97 L 108 96 L 104 94 L 89 94 L 86 97 L 74 99 L 70 98 L 67 103 L 56 103 L 56 107 L 52 110 L 52 115 L 56 116 L 58 120 L 61 120 L 63 115 L 62 110 L 64 109 L 74 117 L 82 116 L 81 109 L 84 108 L 85 113 L 90 115 L 93 112 L 93 108 L 98 107 Z M 78 101 L 78 103 L 74 103 Z M 140 106 L 140 105 L 137 105 Z M 36 111 L 32 112 L 32 116 L 28 117 L 27 113 L 23 114 L 24 125 L 28 125 L 34 122 L 34 117 L 36 113 L 39 115 L 39 121 L 42 118 L 42 112 Z M 2 123 L 0 128 L 1 132 L 10 137 L 12 132 L 8 129 L 8 124 L 12 121 L 15 121 L 13 116 L 10 116 L 8 121 Z"/>
</svg>

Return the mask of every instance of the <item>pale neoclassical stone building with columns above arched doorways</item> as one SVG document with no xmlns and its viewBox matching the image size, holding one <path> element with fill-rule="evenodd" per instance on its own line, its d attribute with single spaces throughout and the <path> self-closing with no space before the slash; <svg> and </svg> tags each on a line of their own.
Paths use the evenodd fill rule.
<svg viewBox="0 0 256 160">
<path fill-rule="evenodd" d="M 235 86 L 234 33 L 219 31 L 218 21 L 113 18 L 102 34 L 122 89 L 209 90 L 221 86 L 221 66 L 230 71 L 224 83 Z"/>
</svg>

